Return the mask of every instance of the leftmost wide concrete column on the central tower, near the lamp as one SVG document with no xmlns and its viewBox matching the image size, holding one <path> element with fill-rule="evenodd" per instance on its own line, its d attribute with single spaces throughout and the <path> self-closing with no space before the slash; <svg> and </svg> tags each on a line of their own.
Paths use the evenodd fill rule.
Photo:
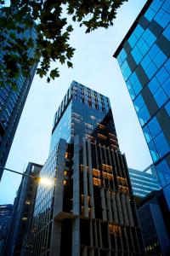
<svg viewBox="0 0 170 256">
<path fill-rule="evenodd" d="M 54 218 L 63 211 L 64 172 L 65 172 L 65 151 L 66 142 L 59 140 L 58 164 L 56 172 L 56 185 L 54 190 Z"/>
</svg>

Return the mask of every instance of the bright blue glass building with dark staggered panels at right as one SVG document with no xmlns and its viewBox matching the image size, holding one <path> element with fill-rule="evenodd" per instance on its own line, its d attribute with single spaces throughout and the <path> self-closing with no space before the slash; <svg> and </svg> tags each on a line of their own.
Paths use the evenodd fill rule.
<svg viewBox="0 0 170 256">
<path fill-rule="evenodd" d="M 162 187 L 170 183 L 169 55 L 170 1 L 148 0 L 114 56 Z"/>
</svg>

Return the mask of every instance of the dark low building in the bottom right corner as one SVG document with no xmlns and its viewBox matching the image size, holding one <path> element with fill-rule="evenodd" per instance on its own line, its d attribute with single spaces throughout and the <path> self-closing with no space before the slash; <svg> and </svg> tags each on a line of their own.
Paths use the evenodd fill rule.
<svg viewBox="0 0 170 256">
<path fill-rule="evenodd" d="M 169 255 L 169 211 L 162 189 L 153 191 L 139 203 L 138 216 L 146 253 Z"/>
</svg>

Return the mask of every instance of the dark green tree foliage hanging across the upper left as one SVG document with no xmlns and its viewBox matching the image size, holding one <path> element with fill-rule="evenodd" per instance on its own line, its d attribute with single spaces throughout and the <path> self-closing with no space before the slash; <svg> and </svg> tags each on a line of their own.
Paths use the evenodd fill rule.
<svg viewBox="0 0 170 256">
<path fill-rule="evenodd" d="M 11 0 L 7 8 L 0 0 L 0 85 L 12 83 L 14 87 L 20 70 L 27 75 L 37 62 L 37 74 L 46 76 L 48 83 L 59 77 L 59 62 L 73 67 L 75 49 L 69 44 L 73 26 L 68 17 L 85 26 L 87 33 L 108 28 L 124 2 L 127 0 Z M 32 37 L 34 29 L 36 38 Z M 34 55 L 28 57 L 32 47 Z M 57 62 L 54 69 L 51 61 Z"/>
</svg>

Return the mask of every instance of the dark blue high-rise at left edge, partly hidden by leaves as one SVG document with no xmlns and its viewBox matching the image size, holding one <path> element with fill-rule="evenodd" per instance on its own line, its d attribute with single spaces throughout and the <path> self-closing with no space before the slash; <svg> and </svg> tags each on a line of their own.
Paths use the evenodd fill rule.
<svg viewBox="0 0 170 256">
<path fill-rule="evenodd" d="M 0 15 L 3 11 L 0 10 Z M 4 36 L 2 34 L 2 36 Z M 5 33 L 6 40 L 4 44 L 8 44 L 8 34 Z M 26 28 L 26 32 L 17 33 L 16 37 L 24 38 L 26 41 L 31 38 L 37 38 L 35 28 Z M 34 54 L 34 49 L 31 48 L 28 53 L 28 58 Z M 3 51 L 1 50 L 0 59 L 3 58 Z M 20 65 L 20 63 L 18 63 Z M 37 65 L 30 67 L 30 74 L 26 77 L 23 72 L 20 72 L 19 79 L 16 80 L 16 90 L 11 88 L 10 84 L 6 84 L 3 78 L 3 87 L 0 87 L 0 166 L 5 166 L 8 159 L 8 153 L 11 148 L 14 134 L 20 121 L 22 110 L 26 103 L 26 97 L 31 87 L 31 82 L 36 72 Z M 1 70 L 5 74 L 5 70 Z M 3 175 L 3 169 L 0 169 L 0 180 Z"/>
</svg>

